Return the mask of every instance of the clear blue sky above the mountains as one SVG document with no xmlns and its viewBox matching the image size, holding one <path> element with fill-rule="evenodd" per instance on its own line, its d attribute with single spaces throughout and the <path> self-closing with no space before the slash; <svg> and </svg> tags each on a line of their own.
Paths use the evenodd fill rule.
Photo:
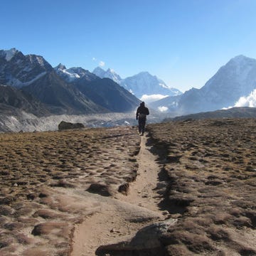
<svg viewBox="0 0 256 256">
<path fill-rule="evenodd" d="M 0 0 L 0 49 L 55 67 L 148 71 L 181 91 L 256 58 L 256 0 Z"/>
</svg>

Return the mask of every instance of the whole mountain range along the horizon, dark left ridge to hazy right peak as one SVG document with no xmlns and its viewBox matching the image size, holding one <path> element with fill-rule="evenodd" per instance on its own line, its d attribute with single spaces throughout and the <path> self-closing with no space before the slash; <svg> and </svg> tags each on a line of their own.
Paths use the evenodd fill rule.
<svg viewBox="0 0 256 256">
<path fill-rule="evenodd" d="M 42 56 L 23 55 L 14 48 L 0 50 L 0 124 L 5 127 L 0 130 L 14 130 L 14 123 L 18 127 L 35 125 L 41 123 L 36 118 L 56 114 L 70 118 L 70 114 L 95 114 L 96 117 L 97 114 L 130 112 L 129 119 L 120 119 L 134 124 L 139 98 L 143 100 L 149 95 L 169 95 L 149 103 L 153 122 L 232 106 L 255 107 L 256 60 L 238 55 L 201 89 L 192 88 L 181 94 L 148 72 L 122 79 L 111 69 L 98 67 L 91 73 L 84 68 L 66 68 L 63 64 L 53 68 Z"/>
</svg>

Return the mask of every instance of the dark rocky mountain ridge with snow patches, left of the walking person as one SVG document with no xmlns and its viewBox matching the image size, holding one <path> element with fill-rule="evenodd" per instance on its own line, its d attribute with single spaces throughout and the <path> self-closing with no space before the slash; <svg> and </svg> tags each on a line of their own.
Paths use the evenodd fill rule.
<svg viewBox="0 0 256 256">
<path fill-rule="evenodd" d="M 0 85 L 4 85 L 0 94 L 5 95 L 0 98 L 2 110 L 18 107 L 40 116 L 129 112 L 139 105 L 137 97 L 110 79 L 82 68 L 60 70 L 65 68 L 53 68 L 42 56 L 0 50 Z M 70 73 L 76 75 L 70 78 Z"/>
</svg>

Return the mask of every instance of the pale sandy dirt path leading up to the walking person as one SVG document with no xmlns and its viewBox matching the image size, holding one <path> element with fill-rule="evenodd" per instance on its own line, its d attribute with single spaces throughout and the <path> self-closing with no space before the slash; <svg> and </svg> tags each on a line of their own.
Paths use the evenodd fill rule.
<svg viewBox="0 0 256 256">
<path fill-rule="evenodd" d="M 87 195 L 100 204 L 100 209 L 75 226 L 71 256 L 95 255 L 100 245 L 127 240 L 145 225 L 164 219 L 157 206 L 159 194 L 154 189 L 158 183 L 159 166 L 156 156 L 146 146 L 146 139 L 146 136 L 141 137 L 137 156 L 138 176 L 130 184 L 128 196 L 118 194 L 115 198 L 107 198 Z"/>
</svg>

